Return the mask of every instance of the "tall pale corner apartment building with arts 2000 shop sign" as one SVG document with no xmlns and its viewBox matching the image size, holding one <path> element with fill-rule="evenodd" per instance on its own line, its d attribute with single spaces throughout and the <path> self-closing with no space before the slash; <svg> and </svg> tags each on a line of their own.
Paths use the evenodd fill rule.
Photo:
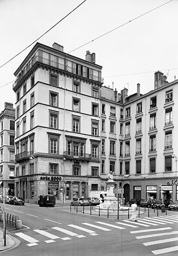
<svg viewBox="0 0 178 256">
<path fill-rule="evenodd" d="M 58 199 L 97 190 L 101 66 L 54 43 L 36 43 L 14 72 L 16 81 L 15 194 Z"/>
</svg>

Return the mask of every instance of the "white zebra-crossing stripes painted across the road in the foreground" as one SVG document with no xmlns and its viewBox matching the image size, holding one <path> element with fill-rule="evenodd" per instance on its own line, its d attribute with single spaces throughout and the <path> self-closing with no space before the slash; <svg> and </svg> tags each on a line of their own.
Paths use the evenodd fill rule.
<svg viewBox="0 0 178 256">
<path fill-rule="evenodd" d="M 26 241 L 27 246 L 35 246 L 40 242 L 53 243 L 59 241 L 67 241 L 71 239 L 87 238 L 89 236 L 98 236 L 102 232 L 112 232 L 117 230 L 128 230 L 130 234 L 135 236 L 135 239 L 139 239 L 144 246 L 151 247 L 156 244 L 162 244 L 164 247 L 169 242 L 178 241 L 178 231 L 172 230 L 169 224 L 175 224 L 178 222 L 178 215 L 159 216 L 159 217 L 144 217 L 137 218 L 134 222 L 130 219 L 112 221 L 90 221 L 82 222 L 79 224 L 60 224 L 60 226 L 48 227 L 48 229 L 33 229 L 21 232 L 20 230 L 15 232 L 15 235 L 20 239 Z M 57 223 L 54 223 L 54 225 Z M 178 227 L 178 226 L 177 226 Z M 140 234 L 140 235 L 139 235 Z M 161 236 L 162 239 L 159 237 Z M 76 237 L 76 238 L 75 238 Z M 46 239 L 47 238 L 47 239 Z M 156 240 L 155 240 L 156 239 Z M 156 247 L 155 247 L 156 248 Z M 155 255 L 162 254 L 168 251 L 177 251 L 178 246 L 165 247 L 165 248 L 153 248 L 151 252 Z"/>
</svg>

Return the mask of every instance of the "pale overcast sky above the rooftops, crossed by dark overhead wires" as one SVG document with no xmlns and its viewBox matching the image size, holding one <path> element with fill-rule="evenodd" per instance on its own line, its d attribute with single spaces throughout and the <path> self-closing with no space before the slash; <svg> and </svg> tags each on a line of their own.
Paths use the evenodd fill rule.
<svg viewBox="0 0 178 256">
<path fill-rule="evenodd" d="M 0 66 L 82 1 L 0 0 Z M 86 0 L 38 42 L 48 46 L 57 42 L 68 53 L 168 1 Z M 144 94 L 154 88 L 157 70 L 167 75 L 169 82 L 178 79 L 177 9 L 178 0 L 172 0 L 70 54 L 85 59 L 86 50 L 95 52 L 95 62 L 102 66 L 103 85 L 112 87 L 113 82 L 118 92 L 126 87 L 130 95 L 139 82 Z M 5 101 L 15 104 L 13 73 L 33 46 L 0 68 L 0 111 Z"/>
</svg>

